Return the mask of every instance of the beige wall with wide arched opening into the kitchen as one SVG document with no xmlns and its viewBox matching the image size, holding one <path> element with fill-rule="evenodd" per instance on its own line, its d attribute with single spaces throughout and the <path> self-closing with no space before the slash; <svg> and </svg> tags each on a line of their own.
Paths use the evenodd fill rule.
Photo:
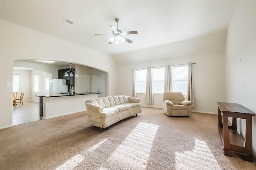
<svg viewBox="0 0 256 170">
<path fill-rule="evenodd" d="M 110 55 L 0 20 L 0 128 L 12 126 L 12 82 L 15 60 L 80 63 L 108 72 L 109 95 L 117 95 L 117 65 Z M 6 86 L 10 83 L 10 87 Z"/>
</svg>

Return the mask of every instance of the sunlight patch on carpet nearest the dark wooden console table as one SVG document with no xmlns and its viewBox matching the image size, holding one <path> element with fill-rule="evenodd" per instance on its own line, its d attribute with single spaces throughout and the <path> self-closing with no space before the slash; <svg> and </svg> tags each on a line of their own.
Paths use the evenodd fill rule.
<svg viewBox="0 0 256 170">
<path fill-rule="evenodd" d="M 222 170 L 204 141 L 195 138 L 192 151 L 175 152 L 176 170 L 198 170 L 200 167 Z"/>
</svg>

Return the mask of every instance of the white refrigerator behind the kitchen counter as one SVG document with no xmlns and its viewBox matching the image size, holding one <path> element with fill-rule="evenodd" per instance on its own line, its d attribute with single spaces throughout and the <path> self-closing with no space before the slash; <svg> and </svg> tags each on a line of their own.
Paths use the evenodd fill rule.
<svg viewBox="0 0 256 170">
<path fill-rule="evenodd" d="M 50 94 L 57 95 L 61 93 L 68 93 L 68 85 L 64 79 L 52 79 L 50 80 Z"/>
</svg>

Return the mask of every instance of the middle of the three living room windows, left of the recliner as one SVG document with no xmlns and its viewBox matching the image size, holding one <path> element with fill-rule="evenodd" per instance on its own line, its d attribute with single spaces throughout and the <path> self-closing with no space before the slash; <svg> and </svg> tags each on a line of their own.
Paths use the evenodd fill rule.
<svg viewBox="0 0 256 170">
<path fill-rule="evenodd" d="M 153 93 L 164 92 L 164 67 L 152 68 Z"/>
</svg>

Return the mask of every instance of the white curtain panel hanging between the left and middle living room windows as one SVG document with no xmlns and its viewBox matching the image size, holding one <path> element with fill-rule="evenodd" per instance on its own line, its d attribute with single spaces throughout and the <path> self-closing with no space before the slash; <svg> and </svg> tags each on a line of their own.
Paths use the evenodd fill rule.
<svg viewBox="0 0 256 170">
<path fill-rule="evenodd" d="M 147 77 L 146 77 L 146 103 L 147 103 L 147 104 L 154 104 L 151 67 L 148 67 L 148 68 L 147 68 Z"/>
</svg>

